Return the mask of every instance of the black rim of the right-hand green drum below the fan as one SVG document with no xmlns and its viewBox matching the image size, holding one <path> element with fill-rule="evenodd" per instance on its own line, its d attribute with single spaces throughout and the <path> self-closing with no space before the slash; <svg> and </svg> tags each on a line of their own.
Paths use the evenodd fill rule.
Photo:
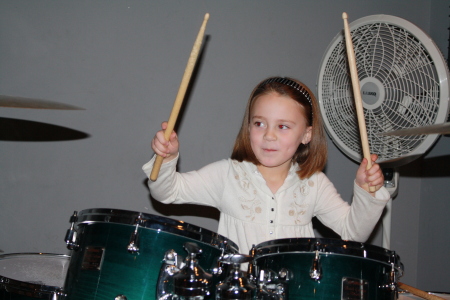
<svg viewBox="0 0 450 300">
<path fill-rule="evenodd" d="M 302 243 L 299 244 L 298 241 L 301 241 Z M 317 243 L 319 243 L 318 246 L 316 246 Z M 345 247 L 341 247 L 339 252 L 336 250 L 332 251 L 335 248 L 337 249 L 337 246 L 343 245 L 345 245 Z M 308 247 L 308 249 L 306 249 L 306 247 Z M 325 249 L 321 249 L 320 247 L 325 247 Z M 280 253 L 312 253 L 316 250 L 316 248 L 319 250 L 320 254 L 348 255 L 370 259 L 389 265 L 393 264 L 396 269 L 400 271 L 403 270 L 400 257 L 395 253 L 395 251 L 361 242 L 331 238 L 286 238 L 265 241 L 255 246 L 255 259 L 258 257 Z"/>
</svg>

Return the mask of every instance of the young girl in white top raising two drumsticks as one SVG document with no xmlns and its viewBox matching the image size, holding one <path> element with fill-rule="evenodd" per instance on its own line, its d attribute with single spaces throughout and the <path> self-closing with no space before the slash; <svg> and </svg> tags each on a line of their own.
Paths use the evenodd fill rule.
<svg viewBox="0 0 450 300">
<path fill-rule="evenodd" d="M 149 181 L 152 196 L 216 207 L 218 233 L 241 253 L 267 240 L 314 237 L 314 216 L 342 239 L 364 242 L 389 200 L 380 166 L 366 170 L 366 159 L 356 172 L 352 204 L 340 197 L 321 172 L 327 146 L 317 101 L 291 78 L 272 77 L 256 86 L 230 159 L 178 173 L 178 138 L 172 133 L 166 141 L 166 127 L 164 122 L 152 140 L 164 157 L 158 179 Z M 371 158 L 375 162 L 377 156 Z M 143 166 L 147 176 L 154 159 Z"/>
</svg>

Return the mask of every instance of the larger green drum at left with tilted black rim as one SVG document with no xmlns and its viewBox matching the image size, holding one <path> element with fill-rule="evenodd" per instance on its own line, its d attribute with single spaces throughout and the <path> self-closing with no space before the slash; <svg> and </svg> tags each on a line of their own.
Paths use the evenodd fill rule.
<svg viewBox="0 0 450 300">
<path fill-rule="evenodd" d="M 156 299 L 166 252 L 186 257 L 187 242 L 201 248 L 198 263 L 209 273 L 223 254 L 238 253 L 215 232 L 161 216 L 101 208 L 75 215 L 64 285 L 69 300 Z"/>
</svg>

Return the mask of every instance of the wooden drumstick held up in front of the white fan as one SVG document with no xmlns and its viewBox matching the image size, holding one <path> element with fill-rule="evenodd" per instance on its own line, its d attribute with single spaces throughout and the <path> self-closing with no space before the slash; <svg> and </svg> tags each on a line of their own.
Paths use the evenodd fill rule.
<svg viewBox="0 0 450 300">
<path fill-rule="evenodd" d="M 362 106 L 361 90 L 359 87 L 358 70 L 356 69 L 355 51 L 353 50 L 352 37 L 350 36 L 350 29 L 347 22 L 347 13 L 342 14 L 344 20 L 345 30 L 345 45 L 347 48 L 348 64 L 350 67 L 350 75 L 353 85 L 353 96 L 355 97 L 356 114 L 358 116 L 359 134 L 361 136 L 361 145 L 363 149 L 363 155 L 367 158 L 367 170 L 372 167 L 372 159 L 370 158 L 369 140 L 367 138 L 366 121 L 364 119 L 364 110 Z M 375 187 L 369 187 L 371 192 L 375 192 Z"/>
</svg>

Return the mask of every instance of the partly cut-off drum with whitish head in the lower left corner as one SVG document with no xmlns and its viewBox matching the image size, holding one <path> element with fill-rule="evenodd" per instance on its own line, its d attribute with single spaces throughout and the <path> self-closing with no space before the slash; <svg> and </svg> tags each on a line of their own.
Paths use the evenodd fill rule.
<svg viewBox="0 0 450 300">
<path fill-rule="evenodd" d="M 68 266 L 62 254 L 0 255 L 0 299 L 63 299 Z"/>
</svg>

